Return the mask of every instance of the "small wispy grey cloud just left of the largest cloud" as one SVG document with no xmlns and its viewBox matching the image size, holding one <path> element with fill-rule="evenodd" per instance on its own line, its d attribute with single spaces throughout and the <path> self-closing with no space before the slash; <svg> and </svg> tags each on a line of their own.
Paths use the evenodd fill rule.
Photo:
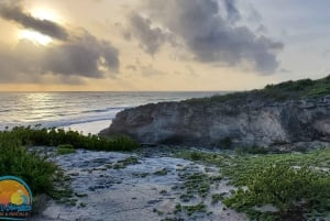
<svg viewBox="0 0 330 221">
<path fill-rule="evenodd" d="M 141 42 L 141 47 L 148 54 L 155 54 L 161 45 L 166 42 L 167 34 L 160 27 L 152 27 L 147 18 L 139 14 L 131 16 L 132 32 Z"/>
</svg>

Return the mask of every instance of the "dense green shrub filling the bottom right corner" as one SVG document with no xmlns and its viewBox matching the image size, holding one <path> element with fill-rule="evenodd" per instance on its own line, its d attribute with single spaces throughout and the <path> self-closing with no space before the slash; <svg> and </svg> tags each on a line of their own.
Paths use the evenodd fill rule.
<svg viewBox="0 0 330 221">
<path fill-rule="evenodd" d="M 228 207 L 245 211 L 253 219 L 265 216 L 255 207 L 273 205 L 278 212 L 268 213 L 274 219 L 305 219 L 310 211 L 322 213 L 330 210 L 330 179 L 307 167 L 270 165 L 257 168 L 248 183 L 248 190 L 239 188 L 224 199 Z"/>
</svg>

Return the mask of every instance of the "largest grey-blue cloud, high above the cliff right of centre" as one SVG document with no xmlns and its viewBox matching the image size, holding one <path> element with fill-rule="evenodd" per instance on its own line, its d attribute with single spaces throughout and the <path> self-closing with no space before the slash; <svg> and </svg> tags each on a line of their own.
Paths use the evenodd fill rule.
<svg viewBox="0 0 330 221">
<path fill-rule="evenodd" d="M 284 47 L 283 43 L 237 25 L 241 14 L 235 1 L 150 0 L 144 13 L 148 19 L 135 16 L 131 22 L 135 22 L 135 32 L 140 30 L 146 35 L 139 38 L 148 51 L 157 52 L 166 42 L 162 31 L 151 29 L 160 23 L 201 63 L 248 66 L 260 74 L 273 74 L 278 69 L 276 53 Z M 140 20 L 139 25 L 136 20 Z"/>
</svg>

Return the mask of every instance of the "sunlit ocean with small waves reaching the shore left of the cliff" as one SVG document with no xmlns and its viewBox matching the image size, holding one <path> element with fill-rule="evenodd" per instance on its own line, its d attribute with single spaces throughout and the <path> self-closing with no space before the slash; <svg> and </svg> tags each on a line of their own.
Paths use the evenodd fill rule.
<svg viewBox="0 0 330 221">
<path fill-rule="evenodd" d="M 42 124 L 97 134 L 127 108 L 221 93 L 224 92 L 0 92 L 0 130 Z"/>
</svg>

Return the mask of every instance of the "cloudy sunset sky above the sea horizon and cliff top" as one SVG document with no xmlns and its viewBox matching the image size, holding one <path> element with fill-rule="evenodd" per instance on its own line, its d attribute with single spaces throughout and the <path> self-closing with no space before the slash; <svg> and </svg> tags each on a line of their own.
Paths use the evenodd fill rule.
<svg viewBox="0 0 330 221">
<path fill-rule="evenodd" d="M 330 1 L 1 0 L 0 91 L 249 90 L 330 74 Z"/>
</svg>

